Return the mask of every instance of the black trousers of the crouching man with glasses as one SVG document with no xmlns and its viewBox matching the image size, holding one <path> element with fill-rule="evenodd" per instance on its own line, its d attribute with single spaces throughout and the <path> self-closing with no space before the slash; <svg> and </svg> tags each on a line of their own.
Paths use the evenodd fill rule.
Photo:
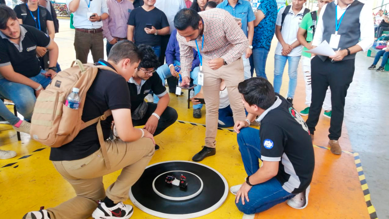
<svg viewBox="0 0 389 219">
<path fill-rule="evenodd" d="M 133 126 L 139 126 L 139 125 L 145 125 L 147 120 L 150 118 L 152 113 L 154 113 L 155 109 L 157 108 L 156 103 L 147 103 L 149 106 L 147 107 L 147 111 L 145 113 L 145 116 L 140 120 L 132 120 Z M 166 107 L 165 111 L 163 111 L 162 115 L 159 116 L 159 121 L 157 128 L 154 132 L 154 136 L 158 135 L 159 133 L 163 132 L 167 127 L 172 125 L 178 118 L 177 111 L 175 109 L 171 108 L 170 106 Z"/>
</svg>

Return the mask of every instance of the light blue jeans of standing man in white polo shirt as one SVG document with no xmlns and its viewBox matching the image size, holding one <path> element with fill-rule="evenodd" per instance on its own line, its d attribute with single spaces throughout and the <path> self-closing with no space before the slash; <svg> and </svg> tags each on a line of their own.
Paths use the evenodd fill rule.
<svg viewBox="0 0 389 219">
<path fill-rule="evenodd" d="M 284 68 L 286 61 L 288 61 L 288 75 L 289 75 L 289 87 L 286 97 L 294 97 L 294 91 L 296 91 L 297 85 L 297 68 L 301 56 L 280 56 L 274 55 L 274 92 L 280 93 L 282 85 L 282 74 L 284 74 Z"/>
</svg>

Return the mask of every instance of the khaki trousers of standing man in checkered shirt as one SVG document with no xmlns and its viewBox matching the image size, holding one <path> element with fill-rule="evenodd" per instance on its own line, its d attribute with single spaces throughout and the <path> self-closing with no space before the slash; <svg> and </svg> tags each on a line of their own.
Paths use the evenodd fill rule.
<svg viewBox="0 0 389 219">
<path fill-rule="evenodd" d="M 244 69 L 241 58 L 231 64 L 221 66 L 218 70 L 209 68 L 208 61 L 203 58 L 203 91 L 207 113 L 205 116 L 205 125 L 207 126 L 205 129 L 205 146 L 215 148 L 217 120 L 219 117 L 219 92 L 222 79 L 226 83 L 234 122 L 246 119 L 242 96 L 238 92 L 238 83 L 244 80 Z"/>
</svg>

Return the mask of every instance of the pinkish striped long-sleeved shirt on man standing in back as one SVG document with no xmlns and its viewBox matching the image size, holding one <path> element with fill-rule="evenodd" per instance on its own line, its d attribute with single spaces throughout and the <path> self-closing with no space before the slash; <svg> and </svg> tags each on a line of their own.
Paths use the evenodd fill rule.
<svg viewBox="0 0 389 219">
<path fill-rule="evenodd" d="M 134 9 L 132 3 L 128 0 L 107 0 L 109 10 L 109 18 L 103 20 L 103 36 L 107 38 L 108 42 L 112 41 L 114 37 L 127 37 L 127 21 L 130 12 Z"/>
</svg>

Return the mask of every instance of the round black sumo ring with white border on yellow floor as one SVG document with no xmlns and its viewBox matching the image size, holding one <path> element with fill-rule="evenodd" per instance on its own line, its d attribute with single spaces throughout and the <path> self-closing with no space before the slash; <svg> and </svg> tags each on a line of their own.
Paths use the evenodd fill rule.
<svg viewBox="0 0 389 219">
<path fill-rule="evenodd" d="M 173 180 L 166 183 L 168 176 Z M 146 167 L 129 195 L 131 202 L 147 214 L 188 219 L 219 208 L 227 198 L 228 184 L 219 172 L 202 163 L 167 161 Z"/>
</svg>

